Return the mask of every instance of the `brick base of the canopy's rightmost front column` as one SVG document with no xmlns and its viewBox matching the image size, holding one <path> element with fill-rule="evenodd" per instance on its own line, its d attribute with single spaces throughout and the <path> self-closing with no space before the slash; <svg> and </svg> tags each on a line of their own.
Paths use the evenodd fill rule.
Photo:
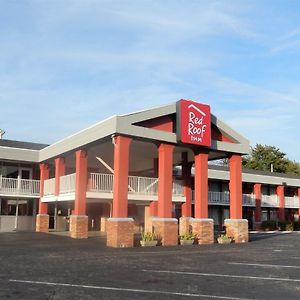
<svg viewBox="0 0 300 300">
<path fill-rule="evenodd" d="M 226 219 L 224 221 L 226 234 L 233 238 L 235 243 L 246 243 L 249 240 L 248 220 Z"/>
</svg>

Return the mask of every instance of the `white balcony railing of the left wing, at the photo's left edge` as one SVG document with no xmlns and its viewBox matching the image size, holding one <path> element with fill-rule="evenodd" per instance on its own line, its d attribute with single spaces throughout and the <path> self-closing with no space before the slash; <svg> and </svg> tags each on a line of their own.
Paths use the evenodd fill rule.
<svg viewBox="0 0 300 300">
<path fill-rule="evenodd" d="M 9 195 L 38 196 L 40 194 L 40 181 L 0 176 L 0 193 Z"/>
</svg>

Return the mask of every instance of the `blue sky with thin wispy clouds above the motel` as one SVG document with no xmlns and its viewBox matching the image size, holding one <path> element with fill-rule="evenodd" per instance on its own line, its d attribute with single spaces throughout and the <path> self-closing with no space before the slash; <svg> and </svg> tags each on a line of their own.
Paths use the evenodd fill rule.
<svg viewBox="0 0 300 300">
<path fill-rule="evenodd" d="M 300 162 L 300 1 L 0 0 L 0 128 L 53 143 L 179 99 Z"/>
</svg>

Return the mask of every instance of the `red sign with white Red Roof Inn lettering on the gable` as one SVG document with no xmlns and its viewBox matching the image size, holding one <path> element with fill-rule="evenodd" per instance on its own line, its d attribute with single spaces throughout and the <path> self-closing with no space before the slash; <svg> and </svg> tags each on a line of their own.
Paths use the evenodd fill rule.
<svg viewBox="0 0 300 300">
<path fill-rule="evenodd" d="M 210 106 L 189 100 L 177 102 L 177 136 L 186 144 L 211 145 Z"/>
</svg>

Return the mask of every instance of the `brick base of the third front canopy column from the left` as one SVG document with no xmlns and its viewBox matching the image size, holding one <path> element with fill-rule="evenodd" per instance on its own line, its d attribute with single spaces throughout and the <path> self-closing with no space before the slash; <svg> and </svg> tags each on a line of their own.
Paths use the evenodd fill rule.
<svg viewBox="0 0 300 300">
<path fill-rule="evenodd" d="M 191 225 L 199 245 L 214 243 L 213 219 L 192 219 Z"/>
</svg>

